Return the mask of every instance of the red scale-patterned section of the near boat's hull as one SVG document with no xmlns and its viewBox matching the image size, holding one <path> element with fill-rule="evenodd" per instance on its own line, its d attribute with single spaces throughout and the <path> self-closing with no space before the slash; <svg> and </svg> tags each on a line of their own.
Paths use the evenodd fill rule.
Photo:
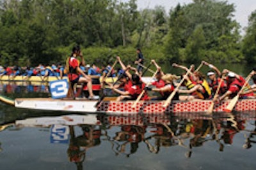
<svg viewBox="0 0 256 170">
<path fill-rule="evenodd" d="M 214 112 L 223 112 L 230 101 L 221 101 L 214 104 Z M 168 107 L 163 108 L 164 101 L 140 101 L 132 108 L 134 101 L 104 101 L 98 111 L 108 113 L 204 113 L 208 110 L 212 101 L 173 101 Z M 242 99 L 237 101 L 234 111 L 256 110 L 256 99 Z"/>
</svg>

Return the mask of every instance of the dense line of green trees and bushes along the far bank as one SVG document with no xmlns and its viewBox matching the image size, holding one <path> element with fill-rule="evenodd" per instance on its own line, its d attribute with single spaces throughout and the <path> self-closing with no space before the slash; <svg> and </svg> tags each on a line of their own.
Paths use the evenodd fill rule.
<svg viewBox="0 0 256 170">
<path fill-rule="evenodd" d="M 0 64 L 36 66 L 65 62 L 74 45 L 86 62 L 124 62 L 141 48 L 158 62 L 255 62 L 256 11 L 246 34 L 234 4 L 194 0 L 138 10 L 136 0 L 1 0 Z"/>
</svg>

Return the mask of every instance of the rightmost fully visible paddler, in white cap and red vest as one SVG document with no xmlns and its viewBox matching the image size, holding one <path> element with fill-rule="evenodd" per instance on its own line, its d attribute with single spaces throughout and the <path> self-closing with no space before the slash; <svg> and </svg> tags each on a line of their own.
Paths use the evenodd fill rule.
<svg viewBox="0 0 256 170">
<path fill-rule="evenodd" d="M 242 76 L 233 73 L 232 71 L 229 71 L 227 69 L 223 70 L 223 74 L 227 74 L 227 92 L 225 92 L 225 94 L 223 94 L 222 96 L 219 97 L 220 100 L 225 99 L 226 97 L 228 97 L 229 99 L 232 99 L 233 97 L 235 97 L 237 95 L 237 93 L 241 90 L 241 88 L 243 87 L 245 80 Z M 243 99 L 248 98 L 248 96 L 253 96 L 253 92 L 248 93 L 248 94 L 243 94 L 240 97 Z"/>
</svg>

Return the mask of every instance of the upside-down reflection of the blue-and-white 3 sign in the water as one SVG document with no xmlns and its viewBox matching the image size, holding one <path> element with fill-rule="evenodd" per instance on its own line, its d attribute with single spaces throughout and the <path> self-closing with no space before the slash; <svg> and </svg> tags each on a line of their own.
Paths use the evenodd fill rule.
<svg viewBox="0 0 256 170">
<path fill-rule="evenodd" d="M 68 143 L 69 127 L 67 125 L 52 125 L 51 143 Z"/>
</svg>

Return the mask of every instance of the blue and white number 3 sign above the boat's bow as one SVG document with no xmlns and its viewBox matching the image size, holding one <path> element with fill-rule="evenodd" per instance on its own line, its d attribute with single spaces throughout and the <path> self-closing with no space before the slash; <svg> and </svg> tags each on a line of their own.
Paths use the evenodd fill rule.
<svg viewBox="0 0 256 170">
<path fill-rule="evenodd" d="M 50 81 L 49 87 L 53 99 L 66 97 L 68 93 L 68 80 Z"/>
</svg>

